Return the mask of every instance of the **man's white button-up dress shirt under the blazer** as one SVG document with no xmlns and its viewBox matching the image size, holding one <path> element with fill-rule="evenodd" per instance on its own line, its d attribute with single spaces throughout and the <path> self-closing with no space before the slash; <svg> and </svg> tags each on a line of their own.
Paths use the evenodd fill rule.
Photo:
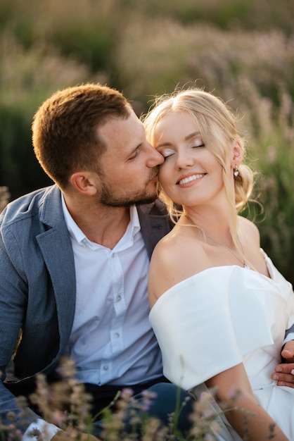
<svg viewBox="0 0 294 441">
<path fill-rule="evenodd" d="M 162 375 L 151 324 L 149 259 L 136 207 L 113 249 L 91 242 L 70 216 L 65 223 L 75 257 L 77 296 L 68 354 L 77 378 L 95 385 L 134 385 Z"/>
</svg>

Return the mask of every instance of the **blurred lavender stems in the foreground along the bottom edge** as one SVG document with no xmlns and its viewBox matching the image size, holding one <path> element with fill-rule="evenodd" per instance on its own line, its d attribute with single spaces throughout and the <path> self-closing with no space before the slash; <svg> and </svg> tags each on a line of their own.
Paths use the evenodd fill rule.
<svg viewBox="0 0 294 441">
<path fill-rule="evenodd" d="M 219 416 L 229 411 L 226 406 L 224 409 L 219 409 L 219 412 L 213 410 L 215 391 L 203 394 L 193 404 L 194 410 L 191 414 L 193 427 L 190 433 L 183 437 L 177 430 L 177 418 L 186 403 L 181 404 L 174 414 L 170 415 L 169 423 L 164 425 L 158 419 L 150 418 L 146 414 L 151 399 L 154 398 L 153 392 L 143 392 L 143 400 L 138 403 L 133 397 L 132 390 L 124 389 L 110 406 L 93 418 L 90 414 L 91 396 L 84 392 L 83 386 L 75 379 L 73 361 L 63 359 L 59 373 L 62 380 L 52 385 L 47 383 L 44 375 L 37 375 L 37 389 L 30 396 L 30 402 L 39 409 L 39 413 L 46 421 L 66 430 L 70 441 L 78 441 L 82 433 L 90 434 L 91 424 L 96 418 L 102 420 L 102 437 L 105 441 L 136 441 L 138 432 L 141 433 L 141 441 L 212 441 L 216 439 L 215 435 L 219 431 Z M 27 399 L 25 397 L 17 399 L 25 418 Z M 115 411 L 113 411 L 114 405 Z M 11 423 L 6 426 L 0 423 L 0 439 L 20 441 L 23 434 L 14 424 L 13 413 L 9 415 L 9 420 Z M 30 435 L 37 441 L 42 441 L 38 430 L 33 430 Z"/>
</svg>

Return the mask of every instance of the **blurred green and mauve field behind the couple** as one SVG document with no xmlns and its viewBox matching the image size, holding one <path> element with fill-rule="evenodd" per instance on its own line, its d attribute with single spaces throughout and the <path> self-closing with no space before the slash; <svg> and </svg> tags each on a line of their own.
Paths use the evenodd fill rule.
<svg viewBox="0 0 294 441">
<path fill-rule="evenodd" d="M 101 82 L 140 115 L 196 84 L 240 116 L 264 206 L 250 215 L 294 282 L 293 31 L 293 0 L 1 0 L 0 185 L 14 199 L 51 183 L 30 126 L 56 89 Z"/>
</svg>

